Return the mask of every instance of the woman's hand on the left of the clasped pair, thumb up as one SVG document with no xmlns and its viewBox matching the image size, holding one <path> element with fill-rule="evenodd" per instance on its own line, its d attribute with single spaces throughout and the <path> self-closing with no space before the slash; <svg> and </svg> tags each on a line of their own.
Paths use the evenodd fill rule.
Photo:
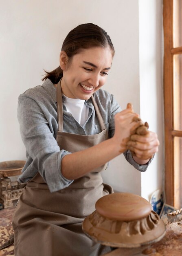
<svg viewBox="0 0 182 256">
<path fill-rule="evenodd" d="M 127 150 L 130 135 L 134 134 L 136 128 L 143 124 L 142 121 L 134 121 L 134 117 L 139 117 L 139 115 L 134 113 L 131 103 L 127 104 L 125 110 L 114 116 L 115 132 L 113 139 L 116 145 L 119 146 L 121 153 Z"/>
</svg>

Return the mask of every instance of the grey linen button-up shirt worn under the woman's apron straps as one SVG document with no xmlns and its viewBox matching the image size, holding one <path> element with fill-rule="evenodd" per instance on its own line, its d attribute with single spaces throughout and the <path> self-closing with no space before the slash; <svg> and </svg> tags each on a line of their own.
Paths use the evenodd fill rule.
<svg viewBox="0 0 182 256">
<path fill-rule="evenodd" d="M 100 89 L 93 95 L 101 111 L 109 137 L 112 137 L 114 135 L 114 115 L 120 112 L 121 108 L 113 95 L 105 90 Z M 56 141 L 58 129 L 56 101 L 56 88 L 49 79 L 46 79 L 42 86 L 38 85 L 26 90 L 18 98 L 18 121 L 27 157 L 18 181 L 28 182 L 39 172 L 50 192 L 64 189 L 73 182 L 61 174 L 61 159 L 70 152 L 60 150 Z M 101 132 L 92 100 L 85 101 L 85 104 L 89 107 L 89 115 L 86 123 L 81 126 L 71 113 L 66 112 L 63 96 L 64 132 L 80 135 Z M 130 164 L 142 172 L 147 170 L 151 162 L 150 160 L 145 165 L 137 164 L 129 150 L 124 155 Z"/>
</svg>

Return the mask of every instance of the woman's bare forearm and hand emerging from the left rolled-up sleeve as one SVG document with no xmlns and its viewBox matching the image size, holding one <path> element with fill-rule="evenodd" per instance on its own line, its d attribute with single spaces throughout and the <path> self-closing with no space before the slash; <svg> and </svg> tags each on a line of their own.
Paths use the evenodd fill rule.
<svg viewBox="0 0 182 256">
<path fill-rule="evenodd" d="M 135 116 L 138 115 L 130 108 L 117 113 L 114 117 L 115 132 L 111 139 L 63 157 L 61 173 L 64 177 L 69 180 L 77 179 L 123 153 L 132 130 L 140 125 L 132 121 Z"/>
</svg>

